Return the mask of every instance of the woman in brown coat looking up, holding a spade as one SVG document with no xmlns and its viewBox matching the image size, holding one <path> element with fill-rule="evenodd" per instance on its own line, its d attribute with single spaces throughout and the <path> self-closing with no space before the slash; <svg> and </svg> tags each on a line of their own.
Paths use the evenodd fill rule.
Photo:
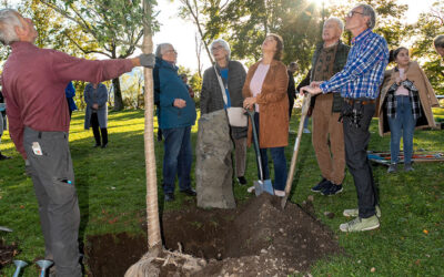
<svg viewBox="0 0 444 277">
<path fill-rule="evenodd" d="M 262 59 L 246 74 L 242 94 L 243 106 L 255 109 L 254 123 L 259 133 L 264 179 L 270 178 L 266 150 L 270 148 L 274 164 L 274 194 L 285 196 L 286 160 L 284 148 L 289 144 L 289 75 L 281 60 L 282 38 L 266 35 L 262 43 Z M 252 129 L 249 127 L 249 145 Z"/>
</svg>

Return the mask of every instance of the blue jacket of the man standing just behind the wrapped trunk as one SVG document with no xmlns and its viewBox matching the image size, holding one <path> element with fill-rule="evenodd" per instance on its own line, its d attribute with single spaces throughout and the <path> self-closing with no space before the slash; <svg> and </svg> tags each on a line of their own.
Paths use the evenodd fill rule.
<svg viewBox="0 0 444 277">
<path fill-rule="evenodd" d="M 185 83 L 178 75 L 178 66 L 161 59 L 155 60 L 154 91 L 159 91 L 160 129 L 186 127 L 194 125 L 195 105 Z M 173 106 L 175 99 L 186 101 L 186 106 Z"/>
</svg>

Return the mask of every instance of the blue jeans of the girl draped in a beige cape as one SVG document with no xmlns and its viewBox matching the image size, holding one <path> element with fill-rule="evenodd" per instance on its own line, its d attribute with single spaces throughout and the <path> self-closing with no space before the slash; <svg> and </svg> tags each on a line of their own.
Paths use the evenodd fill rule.
<svg viewBox="0 0 444 277">
<path fill-rule="evenodd" d="M 397 163 L 400 154 L 401 135 L 404 142 L 404 164 L 412 163 L 413 154 L 413 133 L 415 130 L 416 121 L 412 114 L 412 103 L 410 96 L 396 95 L 396 116 L 389 117 L 390 152 L 392 155 L 392 163 Z"/>
</svg>

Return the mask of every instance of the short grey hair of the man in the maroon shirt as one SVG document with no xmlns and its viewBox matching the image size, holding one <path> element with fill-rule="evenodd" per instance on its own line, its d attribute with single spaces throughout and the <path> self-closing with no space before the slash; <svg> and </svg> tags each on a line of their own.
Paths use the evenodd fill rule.
<svg viewBox="0 0 444 277">
<path fill-rule="evenodd" d="M 4 45 L 19 41 L 14 27 L 23 28 L 23 24 L 20 22 L 17 14 L 19 13 L 13 9 L 0 10 L 0 41 L 3 42 Z"/>
</svg>

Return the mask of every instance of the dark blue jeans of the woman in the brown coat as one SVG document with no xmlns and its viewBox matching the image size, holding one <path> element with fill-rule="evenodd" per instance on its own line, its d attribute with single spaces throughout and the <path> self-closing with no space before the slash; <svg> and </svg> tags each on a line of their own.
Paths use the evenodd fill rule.
<svg viewBox="0 0 444 277">
<path fill-rule="evenodd" d="M 254 114 L 254 124 L 256 125 L 256 131 L 259 135 L 259 113 Z M 259 142 L 261 142 L 261 137 L 259 137 Z M 261 157 L 262 157 L 262 174 L 264 179 L 270 178 L 270 170 L 269 170 L 269 156 L 268 151 L 271 152 L 271 157 L 273 158 L 274 165 L 274 184 L 273 187 L 276 191 L 284 191 L 286 183 L 286 160 L 285 160 L 285 147 L 271 147 L 271 148 L 260 148 Z M 258 177 L 261 178 L 259 168 L 258 168 Z"/>
</svg>

